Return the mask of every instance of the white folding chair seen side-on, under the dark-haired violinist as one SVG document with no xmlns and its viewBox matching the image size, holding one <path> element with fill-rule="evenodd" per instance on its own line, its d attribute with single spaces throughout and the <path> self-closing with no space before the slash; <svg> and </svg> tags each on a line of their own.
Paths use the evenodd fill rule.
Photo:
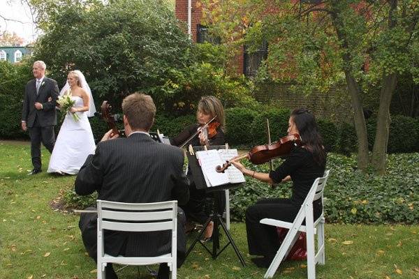
<svg viewBox="0 0 419 279">
<path fill-rule="evenodd" d="M 272 278 L 277 271 L 279 264 L 286 258 L 288 252 L 293 248 L 300 232 L 307 233 L 307 278 L 316 278 L 316 264 L 325 264 L 325 218 L 323 216 L 323 209 L 321 216 L 317 220 L 313 220 L 313 202 L 317 199 L 322 199 L 323 204 L 323 190 L 328 180 L 329 171 L 326 171 L 323 177 L 316 179 L 309 190 L 304 203 L 298 211 L 293 223 L 284 222 L 270 218 L 260 220 L 260 223 L 265 225 L 272 225 L 275 227 L 284 227 L 288 229 L 284 241 L 281 244 L 275 255 L 272 263 L 267 269 L 264 278 Z M 305 219 L 305 224 L 302 222 Z M 314 234 L 317 234 L 317 252 L 315 253 Z"/>
</svg>

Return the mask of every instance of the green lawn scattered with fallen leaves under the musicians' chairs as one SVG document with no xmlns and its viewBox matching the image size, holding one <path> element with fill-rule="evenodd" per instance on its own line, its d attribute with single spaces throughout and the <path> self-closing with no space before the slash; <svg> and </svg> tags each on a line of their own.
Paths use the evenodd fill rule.
<svg viewBox="0 0 419 279">
<path fill-rule="evenodd" d="M 28 144 L 0 142 L 0 278 L 96 278 L 96 265 L 80 237 L 79 216 L 50 206 L 60 189 L 73 187 L 75 176 L 27 176 L 29 149 Z M 49 153 L 43 149 L 42 154 L 45 170 Z M 326 264 L 317 267 L 317 278 L 419 278 L 417 225 L 332 224 L 325 232 Z M 246 267 L 231 247 L 213 260 L 197 245 L 178 278 L 263 278 L 265 269 L 251 264 L 247 255 L 244 224 L 233 223 L 231 234 Z M 281 264 L 274 278 L 307 278 L 305 264 Z M 140 272 L 139 277 L 137 268 L 129 266 L 119 278 L 152 278 L 144 267 Z"/>
</svg>

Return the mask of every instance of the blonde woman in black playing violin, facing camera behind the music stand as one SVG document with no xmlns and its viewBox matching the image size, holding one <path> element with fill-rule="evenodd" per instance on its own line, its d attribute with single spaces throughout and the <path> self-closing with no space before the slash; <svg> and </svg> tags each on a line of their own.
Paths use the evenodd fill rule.
<svg viewBox="0 0 419 279">
<path fill-rule="evenodd" d="M 216 119 L 213 121 L 216 128 L 214 131 L 210 131 L 213 133 L 208 133 L 207 129 L 203 129 L 203 132 L 198 133 L 198 135 L 189 140 L 186 146 L 189 146 L 189 144 L 192 146 L 226 144 L 223 132 L 226 125 L 226 121 L 224 119 L 224 109 L 220 100 L 214 96 L 205 96 L 200 99 L 198 103 L 198 110 L 196 112 L 196 120 L 198 123 L 192 124 L 191 126 L 184 129 L 177 137 L 170 139 L 170 143 L 175 146 L 181 146 L 194 133 L 196 133 L 198 128 L 210 121 L 210 119 L 212 119 L 214 116 L 216 116 Z M 189 221 L 204 224 L 209 217 L 208 213 L 204 210 L 206 197 L 205 190 L 198 190 L 196 188 L 196 184 L 193 182 L 190 168 L 188 169 L 188 178 L 189 181 L 191 181 L 191 185 L 189 187 L 190 198 L 188 204 L 186 204 L 186 206 L 182 206 L 182 209 L 184 209 L 186 218 Z M 212 196 L 216 199 L 218 204 L 217 211 L 222 214 L 224 207 L 226 206 L 226 196 L 223 192 L 215 192 Z M 205 239 L 208 239 L 210 236 L 212 236 L 213 225 L 214 224 L 211 222 L 207 226 L 204 234 Z"/>
</svg>

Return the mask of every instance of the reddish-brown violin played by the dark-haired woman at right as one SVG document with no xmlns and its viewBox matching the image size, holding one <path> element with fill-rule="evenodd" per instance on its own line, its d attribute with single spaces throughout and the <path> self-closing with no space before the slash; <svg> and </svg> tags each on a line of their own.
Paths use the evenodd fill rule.
<svg viewBox="0 0 419 279">
<path fill-rule="evenodd" d="M 272 144 L 254 146 L 249 153 L 226 161 L 226 163 L 222 166 L 217 166 L 216 172 L 224 172 L 228 167 L 230 167 L 232 161 L 242 160 L 243 158 L 249 158 L 250 162 L 254 165 L 267 163 L 273 158 L 287 156 L 291 152 L 293 146 L 301 145 L 300 135 L 287 135 L 286 137 L 281 137 L 279 141 Z"/>
</svg>

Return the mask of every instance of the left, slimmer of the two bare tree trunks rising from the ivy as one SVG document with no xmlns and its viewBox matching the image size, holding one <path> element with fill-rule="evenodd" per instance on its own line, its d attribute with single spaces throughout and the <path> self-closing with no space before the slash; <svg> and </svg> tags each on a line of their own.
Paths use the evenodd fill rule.
<svg viewBox="0 0 419 279">
<path fill-rule="evenodd" d="M 368 167 L 368 138 L 367 126 L 365 125 L 364 111 L 360 98 L 360 87 L 351 73 L 345 70 L 346 84 L 351 93 L 353 121 L 355 125 L 356 138 L 358 140 L 358 169 L 365 170 Z"/>
</svg>

